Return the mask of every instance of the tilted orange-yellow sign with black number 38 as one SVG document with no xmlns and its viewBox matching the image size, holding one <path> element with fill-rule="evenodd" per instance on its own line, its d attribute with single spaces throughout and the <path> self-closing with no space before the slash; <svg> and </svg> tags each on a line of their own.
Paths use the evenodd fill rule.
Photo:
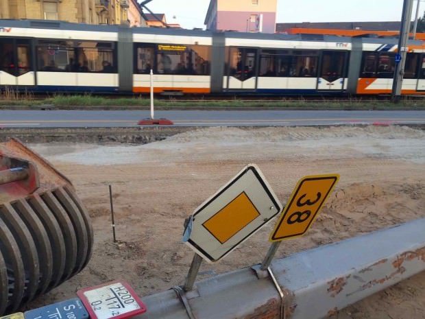
<svg viewBox="0 0 425 319">
<path fill-rule="evenodd" d="M 300 237 L 308 231 L 339 180 L 338 174 L 306 176 L 295 187 L 270 241 Z"/>
</svg>

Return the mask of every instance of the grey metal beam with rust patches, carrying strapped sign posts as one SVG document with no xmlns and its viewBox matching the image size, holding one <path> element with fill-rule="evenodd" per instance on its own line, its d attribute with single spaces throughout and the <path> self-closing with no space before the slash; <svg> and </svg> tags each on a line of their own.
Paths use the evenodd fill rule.
<svg viewBox="0 0 425 319">
<path fill-rule="evenodd" d="M 270 276 L 245 268 L 199 281 L 184 296 L 146 296 L 147 312 L 134 318 L 326 318 L 424 271 L 424 229 L 425 219 L 415 220 L 276 259 L 270 271 L 280 292 Z"/>
</svg>

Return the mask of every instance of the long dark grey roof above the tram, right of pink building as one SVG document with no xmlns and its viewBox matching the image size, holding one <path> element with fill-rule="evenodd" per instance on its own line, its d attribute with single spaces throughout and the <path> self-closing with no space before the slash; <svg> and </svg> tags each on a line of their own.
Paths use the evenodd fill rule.
<svg viewBox="0 0 425 319">
<path fill-rule="evenodd" d="M 276 23 L 276 32 L 285 32 L 285 30 L 293 27 L 308 27 L 312 29 L 400 31 L 400 26 L 400 21 Z"/>
</svg>

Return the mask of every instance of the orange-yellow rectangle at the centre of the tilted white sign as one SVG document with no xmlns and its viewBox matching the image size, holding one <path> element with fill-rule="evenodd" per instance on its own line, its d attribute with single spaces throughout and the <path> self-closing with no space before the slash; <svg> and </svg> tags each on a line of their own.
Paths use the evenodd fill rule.
<svg viewBox="0 0 425 319">
<path fill-rule="evenodd" d="M 250 198 L 243 192 L 202 225 L 224 244 L 259 215 Z"/>
</svg>

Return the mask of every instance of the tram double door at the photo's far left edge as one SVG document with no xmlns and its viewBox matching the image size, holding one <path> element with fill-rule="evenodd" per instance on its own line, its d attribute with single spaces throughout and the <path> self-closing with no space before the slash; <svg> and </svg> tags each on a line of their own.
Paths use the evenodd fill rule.
<svg viewBox="0 0 425 319">
<path fill-rule="evenodd" d="M 0 86 L 34 86 L 32 41 L 0 39 Z"/>
</svg>

